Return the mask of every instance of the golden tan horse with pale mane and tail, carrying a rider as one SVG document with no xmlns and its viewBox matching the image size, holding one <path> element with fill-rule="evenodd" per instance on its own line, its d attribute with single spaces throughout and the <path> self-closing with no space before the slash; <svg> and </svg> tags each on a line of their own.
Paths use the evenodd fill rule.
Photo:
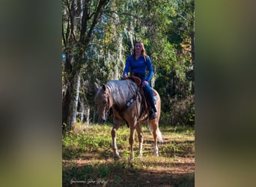
<svg viewBox="0 0 256 187">
<path fill-rule="evenodd" d="M 117 131 L 124 120 L 130 129 L 129 144 L 130 144 L 130 159 L 134 159 L 133 143 L 135 139 L 135 129 L 138 132 L 139 141 L 139 156 L 142 156 L 143 134 L 141 132 L 141 122 L 147 120 L 147 125 L 154 138 L 154 153 L 158 154 L 157 138 L 162 141 L 162 133 L 159 130 L 159 117 L 161 111 L 161 100 L 159 93 L 153 88 L 153 95 L 156 97 L 156 119 L 148 120 L 148 112 L 145 110 L 145 102 L 141 95 L 142 89 L 138 88 L 132 80 L 112 80 L 102 85 L 100 88 L 97 84 L 96 101 L 99 113 L 99 120 L 106 121 L 109 110 L 112 108 L 113 123 L 112 128 L 112 149 L 114 158 L 120 158 L 117 147 Z"/>
</svg>

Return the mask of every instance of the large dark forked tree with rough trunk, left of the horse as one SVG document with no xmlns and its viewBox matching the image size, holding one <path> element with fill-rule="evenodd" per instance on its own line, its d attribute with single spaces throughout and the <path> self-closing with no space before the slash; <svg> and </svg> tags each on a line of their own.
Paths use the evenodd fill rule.
<svg viewBox="0 0 256 187">
<path fill-rule="evenodd" d="M 64 0 L 62 18 L 62 43 L 66 60 L 64 62 L 64 91 L 62 122 L 70 130 L 76 122 L 79 98 L 80 74 L 89 55 L 94 28 L 102 18 L 109 0 Z"/>
</svg>

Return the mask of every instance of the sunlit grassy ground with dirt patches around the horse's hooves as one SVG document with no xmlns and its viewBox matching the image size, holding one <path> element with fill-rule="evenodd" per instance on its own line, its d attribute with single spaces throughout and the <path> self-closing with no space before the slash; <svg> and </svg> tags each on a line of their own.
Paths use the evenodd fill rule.
<svg viewBox="0 0 256 187">
<path fill-rule="evenodd" d="M 195 131 L 192 127 L 160 127 L 164 143 L 159 144 L 159 157 L 156 157 L 153 156 L 153 135 L 143 126 L 143 157 L 137 156 L 136 134 L 133 162 L 129 162 L 129 128 L 121 126 L 118 129 L 117 145 L 121 153 L 119 160 L 112 158 L 111 130 L 112 126 L 95 124 L 82 134 L 67 132 L 63 135 L 63 186 L 82 186 L 88 183 L 100 186 L 104 181 L 108 183 L 107 186 L 148 186 L 148 183 L 174 186 L 183 183 L 191 186 L 194 183 L 194 174 L 179 175 L 169 172 L 170 168 L 177 167 L 174 165 L 176 157 L 195 156 Z M 82 164 L 79 165 L 79 162 Z M 152 176 L 155 171 L 161 172 Z M 148 182 L 153 180 L 152 177 L 155 177 L 156 182 Z M 81 184 L 72 181 L 80 181 Z"/>
</svg>

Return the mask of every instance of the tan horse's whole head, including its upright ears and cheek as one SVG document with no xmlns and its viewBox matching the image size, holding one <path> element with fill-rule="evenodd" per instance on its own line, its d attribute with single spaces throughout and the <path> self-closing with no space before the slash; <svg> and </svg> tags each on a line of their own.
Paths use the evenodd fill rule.
<svg viewBox="0 0 256 187">
<path fill-rule="evenodd" d="M 108 116 L 109 109 L 112 107 L 112 98 L 110 96 L 110 91 L 106 87 L 106 85 L 103 85 L 102 87 L 98 87 L 97 84 L 97 93 L 96 93 L 96 102 L 97 102 L 97 108 L 98 108 L 98 114 L 99 114 L 99 121 L 105 122 Z"/>
</svg>

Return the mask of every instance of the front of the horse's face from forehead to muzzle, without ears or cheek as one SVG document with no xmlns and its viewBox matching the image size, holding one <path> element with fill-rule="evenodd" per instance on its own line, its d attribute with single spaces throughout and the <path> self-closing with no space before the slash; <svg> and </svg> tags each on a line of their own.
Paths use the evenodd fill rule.
<svg viewBox="0 0 256 187">
<path fill-rule="evenodd" d="M 99 114 L 99 121 L 105 122 L 107 118 L 107 112 L 109 111 L 109 96 L 106 93 L 106 88 L 99 88 L 97 91 L 97 108 Z"/>
</svg>

